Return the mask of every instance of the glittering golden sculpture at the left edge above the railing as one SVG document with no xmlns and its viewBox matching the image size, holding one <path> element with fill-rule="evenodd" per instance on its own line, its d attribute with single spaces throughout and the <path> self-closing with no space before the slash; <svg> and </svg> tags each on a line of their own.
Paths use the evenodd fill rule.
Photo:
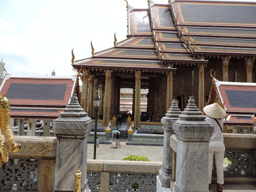
<svg viewBox="0 0 256 192">
<path fill-rule="evenodd" d="M 6 144 L 8 145 L 10 153 L 17 152 L 20 150 L 21 146 L 21 144 L 17 143 L 12 131 L 10 104 L 8 99 L 5 97 L 5 94 L 0 95 L 0 126 L 6 138 L 5 142 L 0 132 L 0 162 L 2 164 L 2 162 L 7 163 L 9 160 Z"/>
</svg>

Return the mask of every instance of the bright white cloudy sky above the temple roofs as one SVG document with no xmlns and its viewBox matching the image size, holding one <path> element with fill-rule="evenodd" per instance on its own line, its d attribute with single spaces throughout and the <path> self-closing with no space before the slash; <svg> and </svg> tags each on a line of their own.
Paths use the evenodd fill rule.
<svg viewBox="0 0 256 192">
<path fill-rule="evenodd" d="M 256 1 L 256 0 L 252 0 Z M 147 0 L 128 0 L 130 6 L 147 8 Z M 155 0 L 168 3 L 168 0 Z M 123 0 L 0 0 L 0 59 L 14 75 L 76 74 L 75 60 L 113 47 L 127 35 Z"/>
</svg>

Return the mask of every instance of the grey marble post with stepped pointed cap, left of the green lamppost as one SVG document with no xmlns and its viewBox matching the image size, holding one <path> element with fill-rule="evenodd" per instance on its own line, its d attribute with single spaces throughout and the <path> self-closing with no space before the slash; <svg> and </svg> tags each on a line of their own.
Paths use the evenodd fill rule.
<svg viewBox="0 0 256 192">
<path fill-rule="evenodd" d="M 78 164 L 83 173 L 82 191 L 90 192 L 87 186 L 87 139 L 92 129 L 92 119 L 80 106 L 76 94 L 60 117 L 53 123 L 57 137 L 54 192 L 73 192 L 75 189 L 74 172 Z"/>
</svg>

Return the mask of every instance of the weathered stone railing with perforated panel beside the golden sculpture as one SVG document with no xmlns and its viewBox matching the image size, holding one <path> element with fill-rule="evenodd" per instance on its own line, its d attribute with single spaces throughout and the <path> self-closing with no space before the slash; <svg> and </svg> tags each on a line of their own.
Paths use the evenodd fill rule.
<svg viewBox="0 0 256 192">
<path fill-rule="evenodd" d="M 22 148 L 2 164 L 0 191 L 53 191 L 56 137 L 15 137 Z"/>
</svg>

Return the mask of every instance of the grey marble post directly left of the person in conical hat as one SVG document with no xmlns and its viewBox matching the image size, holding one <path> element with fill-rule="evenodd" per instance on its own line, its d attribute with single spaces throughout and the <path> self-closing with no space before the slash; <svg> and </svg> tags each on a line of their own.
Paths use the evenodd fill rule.
<svg viewBox="0 0 256 192">
<path fill-rule="evenodd" d="M 172 128 L 177 136 L 174 192 L 208 192 L 208 148 L 213 126 L 192 96 Z"/>
</svg>

